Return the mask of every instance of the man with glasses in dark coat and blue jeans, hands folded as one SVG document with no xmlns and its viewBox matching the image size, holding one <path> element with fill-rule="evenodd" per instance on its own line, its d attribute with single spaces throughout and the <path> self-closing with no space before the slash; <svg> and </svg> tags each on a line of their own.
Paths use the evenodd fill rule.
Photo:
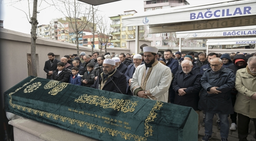
<svg viewBox="0 0 256 141">
<path fill-rule="evenodd" d="M 223 67 L 220 58 L 210 60 L 210 69 L 204 71 L 201 78 L 202 92 L 198 109 L 204 110 L 205 136 L 202 141 L 209 141 L 212 134 L 213 116 L 219 114 L 221 141 L 228 141 L 228 114 L 234 114 L 231 102 L 231 90 L 234 88 L 236 76 L 230 69 Z"/>
</svg>

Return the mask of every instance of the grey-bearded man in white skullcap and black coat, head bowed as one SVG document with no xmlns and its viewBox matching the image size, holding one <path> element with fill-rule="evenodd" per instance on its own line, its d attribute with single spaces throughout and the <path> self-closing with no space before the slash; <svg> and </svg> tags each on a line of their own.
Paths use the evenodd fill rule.
<svg viewBox="0 0 256 141">
<path fill-rule="evenodd" d="M 103 61 L 103 72 L 97 78 L 91 88 L 126 94 L 126 77 L 115 68 L 115 61 L 105 59 Z"/>
</svg>

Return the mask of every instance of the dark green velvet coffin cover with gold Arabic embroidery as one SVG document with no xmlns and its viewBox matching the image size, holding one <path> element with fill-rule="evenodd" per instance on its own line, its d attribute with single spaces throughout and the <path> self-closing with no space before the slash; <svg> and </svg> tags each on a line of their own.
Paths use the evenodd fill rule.
<svg viewBox="0 0 256 141">
<path fill-rule="evenodd" d="M 102 141 L 197 141 L 191 107 L 33 76 L 4 96 L 6 112 Z"/>
</svg>

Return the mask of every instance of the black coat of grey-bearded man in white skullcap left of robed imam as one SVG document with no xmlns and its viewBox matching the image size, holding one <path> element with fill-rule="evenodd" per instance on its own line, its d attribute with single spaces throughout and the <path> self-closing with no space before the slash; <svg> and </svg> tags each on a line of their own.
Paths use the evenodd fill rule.
<svg viewBox="0 0 256 141">
<path fill-rule="evenodd" d="M 113 73 L 113 75 L 110 78 L 108 78 L 108 80 L 106 80 L 106 83 L 105 83 L 104 87 L 102 88 L 102 90 L 106 90 L 109 92 L 117 92 L 120 94 L 121 93 L 126 94 L 126 77 L 125 77 L 125 75 L 117 70 L 115 73 Z M 97 80 L 94 82 L 94 84 L 91 85 L 91 88 L 99 89 L 99 84 L 101 84 L 101 81 L 102 81 L 102 76 L 97 78 Z M 115 85 L 117 85 L 117 86 L 115 86 Z M 121 90 L 121 92 L 119 90 Z"/>
</svg>

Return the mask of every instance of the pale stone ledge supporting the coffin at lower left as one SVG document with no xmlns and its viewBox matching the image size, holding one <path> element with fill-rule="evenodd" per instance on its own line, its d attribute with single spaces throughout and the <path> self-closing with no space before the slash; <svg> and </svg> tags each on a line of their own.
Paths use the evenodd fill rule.
<svg viewBox="0 0 256 141">
<path fill-rule="evenodd" d="M 15 139 L 32 141 L 40 138 L 45 141 L 98 141 L 58 127 L 39 123 L 25 117 L 9 121 L 14 128 Z M 26 134 L 28 133 L 28 134 Z"/>
</svg>

